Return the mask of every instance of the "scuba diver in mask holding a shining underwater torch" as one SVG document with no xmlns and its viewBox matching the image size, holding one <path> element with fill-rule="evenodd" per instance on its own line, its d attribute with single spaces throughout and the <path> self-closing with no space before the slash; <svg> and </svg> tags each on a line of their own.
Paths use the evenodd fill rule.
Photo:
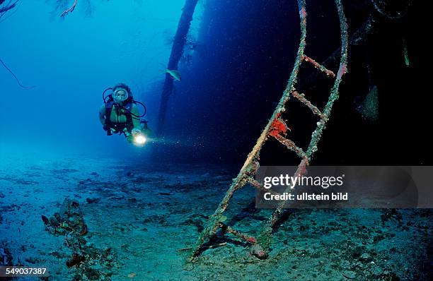
<svg viewBox="0 0 433 281">
<path fill-rule="evenodd" d="M 105 96 L 108 90 L 112 90 L 112 93 Z M 146 107 L 134 100 L 131 89 L 124 83 L 107 88 L 103 92 L 103 101 L 99 109 L 99 121 L 107 131 L 107 136 L 112 133 L 124 134 L 129 143 L 144 145 L 151 134 L 147 121 L 140 119 L 146 115 Z M 139 114 L 137 104 L 142 105 L 144 114 Z"/>
</svg>

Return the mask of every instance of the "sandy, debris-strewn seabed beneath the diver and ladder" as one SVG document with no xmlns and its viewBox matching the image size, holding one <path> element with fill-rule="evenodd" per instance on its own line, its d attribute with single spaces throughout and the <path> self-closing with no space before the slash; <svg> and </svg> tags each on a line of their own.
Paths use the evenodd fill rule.
<svg viewBox="0 0 433 281">
<path fill-rule="evenodd" d="M 235 176 L 202 165 L 4 157 L 0 265 L 46 266 L 43 280 L 431 280 L 430 210 L 289 210 L 267 259 L 226 235 L 214 240 L 225 246 L 185 263 L 179 250 L 195 243 Z M 41 219 L 65 198 L 79 203 L 87 226 L 79 237 L 87 260 L 70 267 L 67 233 L 50 233 Z M 248 187 L 226 223 L 257 236 L 270 211 L 254 208 Z"/>
</svg>

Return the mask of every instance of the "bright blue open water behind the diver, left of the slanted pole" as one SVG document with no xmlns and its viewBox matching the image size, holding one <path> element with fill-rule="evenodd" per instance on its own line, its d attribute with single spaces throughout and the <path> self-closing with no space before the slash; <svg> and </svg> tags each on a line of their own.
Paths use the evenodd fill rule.
<svg viewBox="0 0 433 281">
<path fill-rule="evenodd" d="M 19 1 L 0 24 L 0 54 L 26 86 L 0 68 L 1 150 L 120 157 L 137 155 L 120 136 L 107 138 L 98 121 L 105 88 L 127 83 L 155 126 L 183 1 L 79 1 L 61 18 L 54 1 Z M 200 6 L 191 32 L 200 24 Z M 140 153 L 146 153 L 140 150 Z"/>
</svg>

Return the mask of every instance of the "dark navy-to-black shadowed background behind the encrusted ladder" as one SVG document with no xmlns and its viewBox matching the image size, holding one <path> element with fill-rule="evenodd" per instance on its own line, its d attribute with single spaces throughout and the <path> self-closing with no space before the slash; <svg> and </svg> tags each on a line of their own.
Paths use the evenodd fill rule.
<svg viewBox="0 0 433 281">
<path fill-rule="evenodd" d="M 339 53 L 340 34 L 335 4 L 307 3 L 306 54 L 336 71 L 339 59 L 332 55 Z M 417 81 L 422 57 L 412 32 L 421 4 L 413 2 L 399 19 L 386 18 L 371 1 L 345 1 L 344 7 L 351 38 L 349 73 L 312 164 L 427 165 L 430 138 L 421 126 L 428 110 L 423 91 L 417 90 L 423 85 Z M 355 34 L 369 20 L 371 28 Z M 299 44 L 297 7 L 291 1 L 208 1 L 199 41 L 203 47 L 183 70 L 189 79 L 178 85 L 165 129 L 166 138 L 184 141 L 168 145 L 160 157 L 241 165 L 289 78 Z M 332 80 L 316 72 L 302 64 L 298 88 L 323 109 Z M 317 117 L 298 101 L 291 103 L 284 116 L 293 127 L 289 137 L 305 148 Z M 279 143 L 269 145 L 261 154 L 262 165 L 299 161 L 278 153 Z"/>
</svg>

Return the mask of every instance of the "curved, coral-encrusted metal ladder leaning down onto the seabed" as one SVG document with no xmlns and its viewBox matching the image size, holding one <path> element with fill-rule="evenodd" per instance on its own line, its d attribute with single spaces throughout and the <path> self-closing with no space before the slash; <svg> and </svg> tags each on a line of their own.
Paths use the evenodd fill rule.
<svg viewBox="0 0 433 281">
<path fill-rule="evenodd" d="M 214 214 L 209 217 L 207 227 L 204 228 L 204 230 L 200 234 L 200 237 L 197 239 L 197 242 L 194 246 L 192 246 L 187 261 L 193 261 L 194 258 L 199 255 L 202 245 L 206 241 L 209 241 L 209 238 L 214 236 L 214 234 L 220 228 L 223 232 L 228 232 L 240 239 L 243 239 L 253 244 L 253 252 L 256 254 L 256 256 L 267 255 L 267 250 L 269 249 L 272 241 L 272 227 L 275 225 L 275 222 L 277 222 L 280 215 L 282 214 L 285 201 L 282 201 L 279 204 L 279 206 L 274 210 L 267 222 L 265 222 L 265 225 L 260 231 L 260 236 L 258 237 L 258 239 L 255 239 L 248 234 L 238 232 L 236 229 L 229 227 L 228 225 L 221 222 L 221 217 L 226 208 L 228 207 L 229 201 L 235 191 L 243 188 L 243 186 L 246 186 L 246 184 L 250 184 L 256 189 L 263 189 L 262 184 L 256 181 L 254 177 L 258 171 L 258 167 L 260 166 L 260 150 L 262 149 L 262 146 L 265 144 L 266 140 L 268 140 L 270 137 L 275 138 L 277 141 L 279 141 L 279 143 L 284 145 L 284 147 L 294 151 L 294 153 L 296 153 L 296 155 L 301 158 L 301 162 L 298 166 L 298 169 L 296 170 L 295 175 L 303 175 L 306 173 L 306 167 L 308 166 L 308 163 L 311 160 L 313 153 L 317 151 L 317 144 L 321 139 L 323 130 L 325 129 L 326 123 L 329 120 L 333 104 L 335 100 L 338 99 L 338 89 L 340 87 L 342 76 L 347 72 L 347 23 L 341 1 L 342 0 L 335 0 L 335 4 L 337 6 L 337 13 L 340 20 L 341 37 L 340 66 L 338 68 L 337 75 L 335 75 L 333 71 L 328 70 L 327 68 L 325 68 L 325 66 L 318 64 L 316 61 L 304 54 L 304 49 L 306 46 L 306 0 L 298 0 L 299 18 L 301 22 L 301 40 L 299 43 L 296 60 L 294 62 L 294 68 L 291 71 L 287 87 L 284 90 L 283 95 L 279 100 L 279 103 L 277 104 L 277 107 L 275 108 L 271 119 L 268 121 L 265 129 L 260 134 L 257 143 L 255 143 L 253 150 L 251 150 L 251 152 L 248 154 L 246 162 L 243 164 L 241 171 L 238 173 L 238 176 L 233 179 L 229 190 L 226 191 L 226 195 L 222 199 L 221 203 L 219 203 L 217 210 L 215 210 Z M 328 102 L 325 104 L 323 112 L 321 112 L 318 107 L 311 104 L 311 102 L 307 100 L 305 95 L 297 92 L 294 88 L 298 76 L 299 67 L 304 61 L 313 64 L 315 68 L 324 73 L 326 76 L 330 78 L 335 78 L 333 88 L 331 88 L 330 90 Z M 311 140 L 306 151 L 304 151 L 302 148 L 299 148 L 299 146 L 297 146 L 292 140 L 285 137 L 285 134 L 287 133 L 287 125 L 282 119 L 281 114 L 286 110 L 285 105 L 287 101 L 289 101 L 290 97 L 294 97 L 296 100 L 299 100 L 300 102 L 305 104 L 309 109 L 311 109 L 311 112 L 313 114 L 316 114 L 320 119 L 320 121 L 317 122 L 316 129 L 311 135 Z"/>
</svg>

